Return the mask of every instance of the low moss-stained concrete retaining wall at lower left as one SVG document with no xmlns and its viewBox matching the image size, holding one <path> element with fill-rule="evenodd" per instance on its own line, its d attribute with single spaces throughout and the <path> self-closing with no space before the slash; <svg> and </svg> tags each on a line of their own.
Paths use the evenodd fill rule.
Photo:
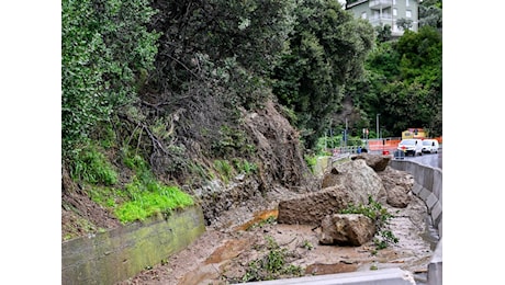
<svg viewBox="0 0 505 285">
<path fill-rule="evenodd" d="M 192 206 L 144 223 L 61 243 L 61 284 L 114 284 L 166 260 L 205 231 L 203 212 Z"/>
</svg>

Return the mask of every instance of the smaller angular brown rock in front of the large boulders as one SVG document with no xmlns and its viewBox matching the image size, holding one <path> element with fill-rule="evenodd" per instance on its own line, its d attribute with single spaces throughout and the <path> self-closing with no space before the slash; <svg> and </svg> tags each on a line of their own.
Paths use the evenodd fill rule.
<svg viewBox="0 0 505 285">
<path fill-rule="evenodd" d="M 321 244 L 359 247 L 375 235 L 372 219 L 361 214 L 334 214 L 321 223 Z"/>
</svg>

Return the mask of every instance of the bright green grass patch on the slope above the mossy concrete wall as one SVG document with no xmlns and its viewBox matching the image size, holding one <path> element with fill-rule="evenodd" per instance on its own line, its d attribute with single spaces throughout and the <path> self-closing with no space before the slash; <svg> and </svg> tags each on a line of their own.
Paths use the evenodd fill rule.
<svg viewBox="0 0 505 285">
<path fill-rule="evenodd" d="M 91 200 L 109 208 L 121 223 L 145 220 L 156 214 L 170 215 L 176 208 L 194 204 L 193 198 L 177 186 L 157 181 L 141 156 L 127 149 L 123 155 L 125 166 L 134 172 L 132 181 L 123 187 L 117 183 L 114 168 L 97 147 L 80 152 L 72 172 L 76 180 L 88 185 Z"/>
</svg>

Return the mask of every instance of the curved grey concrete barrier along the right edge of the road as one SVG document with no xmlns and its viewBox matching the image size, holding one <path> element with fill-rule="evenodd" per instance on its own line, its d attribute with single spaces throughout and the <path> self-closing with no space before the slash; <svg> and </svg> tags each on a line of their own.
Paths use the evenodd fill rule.
<svg viewBox="0 0 505 285">
<path fill-rule="evenodd" d="M 390 167 L 411 173 L 415 185 L 412 192 L 428 209 L 431 225 L 438 230 L 439 241 L 428 264 L 428 285 L 442 284 L 442 171 L 408 160 L 391 160 Z"/>
</svg>

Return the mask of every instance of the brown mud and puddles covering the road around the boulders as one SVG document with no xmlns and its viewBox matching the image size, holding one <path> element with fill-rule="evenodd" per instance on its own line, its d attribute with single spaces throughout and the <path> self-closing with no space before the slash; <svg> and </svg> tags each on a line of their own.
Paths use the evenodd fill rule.
<svg viewBox="0 0 505 285">
<path fill-rule="evenodd" d="M 209 227 L 187 249 L 117 285 L 240 283 L 245 280 L 248 264 L 267 254 L 266 244 L 272 241 L 285 249 L 289 263 L 300 266 L 302 275 L 400 267 L 412 272 L 417 284 L 426 284 L 436 240 L 427 235 L 429 229 L 424 202 L 413 196 L 406 208 L 388 207 L 388 210 L 394 215 L 391 230 L 400 241 L 386 249 L 377 250 L 372 241 L 361 247 L 321 246 L 318 228 L 277 224 L 276 219 L 269 218 L 277 215 L 273 209 L 256 213 L 245 224 L 227 228 Z M 232 213 L 228 214 L 233 217 Z M 244 220 L 244 217 L 236 220 Z"/>
</svg>

